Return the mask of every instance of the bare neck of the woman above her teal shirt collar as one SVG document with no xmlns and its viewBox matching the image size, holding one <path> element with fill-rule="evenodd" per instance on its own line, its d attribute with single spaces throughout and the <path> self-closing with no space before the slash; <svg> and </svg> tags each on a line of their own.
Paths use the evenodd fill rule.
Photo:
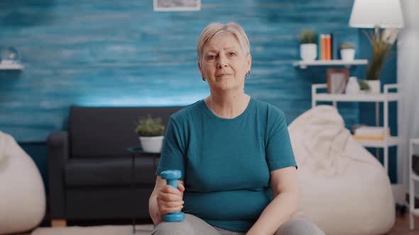
<svg viewBox="0 0 419 235">
<path fill-rule="evenodd" d="M 243 92 L 235 94 L 211 93 L 204 101 L 209 110 L 218 117 L 234 118 L 246 110 L 247 105 L 249 105 L 250 96 Z"/>
</svg>

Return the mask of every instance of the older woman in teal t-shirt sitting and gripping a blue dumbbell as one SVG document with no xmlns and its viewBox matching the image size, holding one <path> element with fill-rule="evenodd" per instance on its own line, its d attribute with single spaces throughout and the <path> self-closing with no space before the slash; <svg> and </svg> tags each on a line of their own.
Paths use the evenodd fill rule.
<svg viewBox="0 0 419 235">
<path fill-rule="evenodd" d="M 300 185 L 284 113 L 244 93 L 249 39 L 236 23 L 212 23 L 197 42 L 210 95 L 170 117 L 149 210 L 152 234 L 324 234 L 291 219 Z M 160 173 L 179 170 L 178 189 Z M 185 212 L 183 222 L 163 214 Z"/>
</svg>

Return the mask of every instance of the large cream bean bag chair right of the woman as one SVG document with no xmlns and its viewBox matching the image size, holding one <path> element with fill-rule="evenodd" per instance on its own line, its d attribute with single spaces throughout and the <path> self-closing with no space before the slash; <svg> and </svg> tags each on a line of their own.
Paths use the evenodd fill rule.
<svg viewBox="0 0 419 235">
<path fill-rule="evenodd" d="M 354 140 L 336 108 L 320 105 L 288 127 L 299 166 L 296 218 L 328 235 L 385 234 L 396 219 L 383 166 Z"/>
</svg>

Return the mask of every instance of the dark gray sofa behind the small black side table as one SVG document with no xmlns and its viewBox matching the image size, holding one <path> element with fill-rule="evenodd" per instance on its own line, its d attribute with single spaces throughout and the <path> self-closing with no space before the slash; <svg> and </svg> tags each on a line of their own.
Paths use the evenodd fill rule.
<svg viewBox="0 0 419 235">
<path fill-rule="evenodd" d="M 183 107 L 70 107 L 68 130 L 48 136 L 52 220 L 148 219 L 148 197 L 156 177 L 152 157 L 136 156 L 136 208 L 131 156 L 139 146 L 138 116 L 161 117 Z M 134 212 L 135 211 L 135 212 Z"/>
</svg>

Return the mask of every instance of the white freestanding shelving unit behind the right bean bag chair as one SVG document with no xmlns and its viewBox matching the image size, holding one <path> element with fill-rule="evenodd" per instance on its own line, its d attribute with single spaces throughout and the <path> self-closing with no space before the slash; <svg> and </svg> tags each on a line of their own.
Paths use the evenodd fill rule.
<svg viewBox="0 0 419 235">
<path fill-rule="evenodd" d="M 385 133 L 388 132 L 388 102 L 400 101 L 401 96 L 397 92 L 390 92 L 390 89 L 397 89 L 397 84 L 384 85 L 384 92 L 379 94 L 364 93 L 364 94 L 331 94 L 318 93 L 318 89 L 327 88 L 327 84 L 313 84 L 312 85 L 312 107 L 315 107 L 318 101 L 330 101 L 333 106 L 337 108 L 337 102 L 375 102 L 376 103 L 376 117 L 379 117 L 379 103 L 383 103 L 383 127 Z M 388 147 L 401 147 L 401 138 L 397 136 L 384 135 L 383 140 L 359 140 L 364 147 L 383 148 L 384 150 L 384 168 L 388 172 Z"/>
</svg>

